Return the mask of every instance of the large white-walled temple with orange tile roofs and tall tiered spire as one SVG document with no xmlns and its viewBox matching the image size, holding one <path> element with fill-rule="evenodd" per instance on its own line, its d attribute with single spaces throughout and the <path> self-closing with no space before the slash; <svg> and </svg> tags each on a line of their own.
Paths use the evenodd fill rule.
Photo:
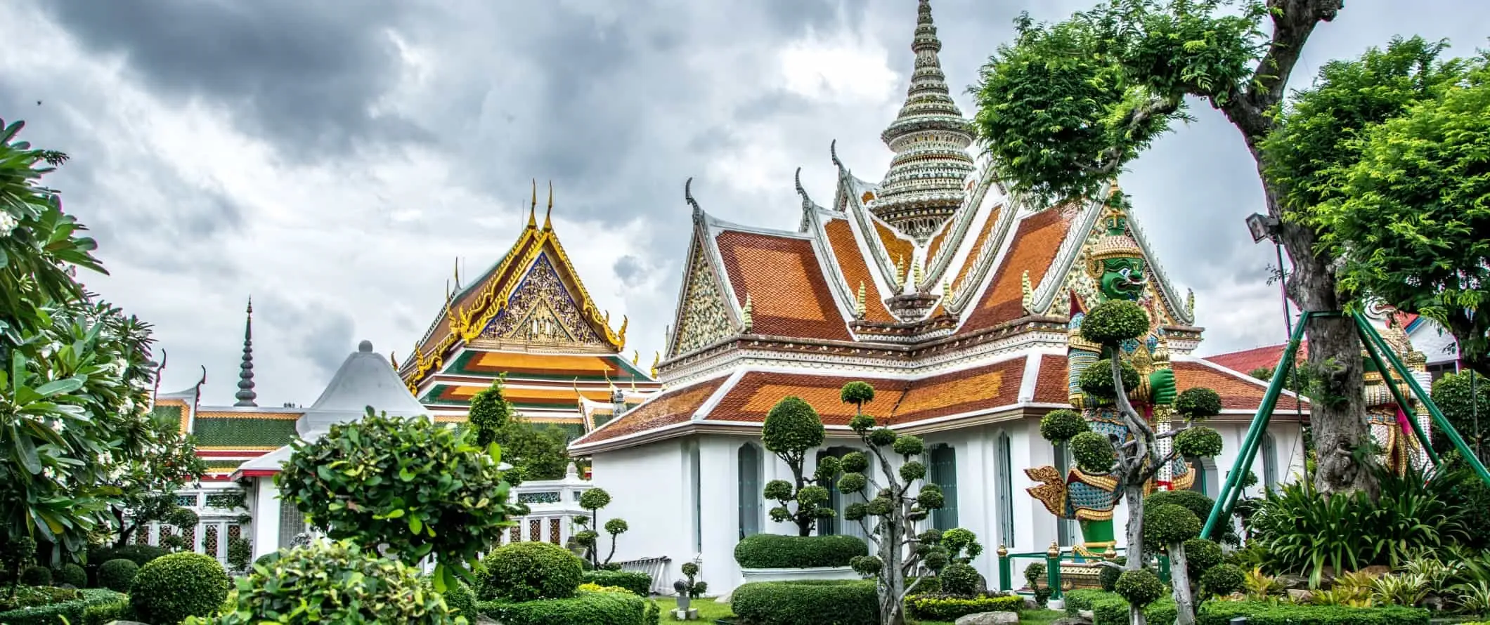
<svg viewBox="0 0 1490 625">
<path fill-rule="evenodd" d="M 839 388 L 858 379 L 876 388 L 869 414 L 925 439 L 928 479 L 948 501 L 930 524 L 980 537 L 986 549 L 973 564 L 991 588 L 1000 546 L 1101 543 L 1083 536 L 1086 521 L 1120 527 L 1126 506 L 1110 494 L 1106 506 L 1083 504 L 1080 525 L 1052 513 L 1077 487 L 1100 485 L 1067 490 L 1068 454 L 1040 438 L 1039 420 L 1080 405 L 1076 381 L 1095 354 L 1079 324 L 1110 298 L 1149 312 L 1149 336 L 1131 351 L 1144 369 L 1173 371 L 1179 390 L 1222 396 L 1211 426 L 1226 451 L 1183 463 L 1161 484 L 1217 493 L 1266 382 L 1193 356 L 1204 333 L 1193 296 L 1165 275 L 1138 214 L 1101 201 L 1033 205 L 970 156 L 973 131 L 951 97 L 940 48 L 921 0 L 906 101 L 881 135 L 894 153 L 890 170 L 866 180 L 830 147 L 831 201 L 815 201 L 799 170 L 794 231 L 717 219 L 691 180 L 684 185 L 693 237 L 657 368 L 663 390 L 571 443 L 611 493 L 606 515 L 648 518 L 633 524 L 617 558 L 668 557 L 673 567 L 697 558 L 721 592 L 749 579 L 732 555 L 739 539 L 796 533 L 770 521 L 761 497 L 767 481 L 790 479 L 760 443 L 767 411 L 785 396 L 805 399 L 827 426 L 817 457 L 842 455 L 861 446 L 848 429 L 854 406 L 839 400 Z M 1275 479 L 1302 472 L 1299 411 L 1307 415 L 1298 397 L 1278 400 L 1258 458 Z M 809 454 L 809 473 L 814 463 Z M 863 536 L 842 519 L 846 503 L 834 494 L 839 516 L 820 533 Z"/>
</svg>

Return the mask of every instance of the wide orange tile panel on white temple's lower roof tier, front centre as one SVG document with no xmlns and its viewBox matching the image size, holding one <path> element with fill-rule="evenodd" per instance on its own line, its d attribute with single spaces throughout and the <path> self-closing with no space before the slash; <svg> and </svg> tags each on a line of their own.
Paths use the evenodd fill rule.
<svg viewBox="0 0 1490 625">
<path fill-rule="evenodd" d="M 709 411 L 715 421 L 763 423 L 782 397 L 797 396 L 818 411 L 827 426 L 846 426 L 855 408 L 839 400 L 851 381 L 875 387 L 875 400 L 864 412 L 885 424 L 903 424 L 979 409 L 1012 405 L 1019 397 L 1024 357 L 967 371 L 906 381 L 858 375 L 802 375 L 776 372 L 745 374 L 720 405 Z"/>
</svg>

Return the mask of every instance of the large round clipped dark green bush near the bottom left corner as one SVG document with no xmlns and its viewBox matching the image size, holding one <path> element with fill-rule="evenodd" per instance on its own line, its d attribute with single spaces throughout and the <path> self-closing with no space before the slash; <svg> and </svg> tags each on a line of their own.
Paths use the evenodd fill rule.
<svg viewBox="0 0 1490 625">
<path fill-rule="evenodd" d="M 188 616 L 216 613 L 231 586 L 228 571 L 210 555 L 162 555 L 134 574 L 130 604 L 139 621 L 179 624 Z"/>
</svg>

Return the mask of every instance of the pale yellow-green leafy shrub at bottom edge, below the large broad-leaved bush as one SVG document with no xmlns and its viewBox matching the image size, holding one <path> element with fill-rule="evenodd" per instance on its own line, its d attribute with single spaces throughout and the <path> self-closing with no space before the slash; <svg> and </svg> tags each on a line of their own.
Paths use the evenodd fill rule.
<svg viewBox="0 0 1490 625">
<path fill-rule="evenodd" d="M 457 621 L 446 598 L 425 591 L 416 568 L 365 552 L 350 540 L 317 540 L 288 551 L 267 567 L 255 567 L 238 582 L 231 610 L 189 619 L 186 625 L 264 622 L 454 625 Z"/>
</svg>

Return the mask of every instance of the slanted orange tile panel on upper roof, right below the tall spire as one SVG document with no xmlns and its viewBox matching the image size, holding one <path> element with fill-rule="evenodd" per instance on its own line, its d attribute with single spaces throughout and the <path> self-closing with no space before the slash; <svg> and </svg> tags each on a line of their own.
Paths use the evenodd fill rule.
<svg viewBox="0 0 1490 625">
<path fill-rule="evenodd" d="M 1030 272 L 1030 284 L 1040 284 L 1055 253 L 1070 231 L 1071 222 L 1059 210 L 1044 210 L 1025 217 L 1015 231 L 1013 241 L 992 284 L 983 292 L 982 301 L 973 310 L 961 332 L 973 332 L 1022 317 L 1024 272 Z"/>
</svg>

